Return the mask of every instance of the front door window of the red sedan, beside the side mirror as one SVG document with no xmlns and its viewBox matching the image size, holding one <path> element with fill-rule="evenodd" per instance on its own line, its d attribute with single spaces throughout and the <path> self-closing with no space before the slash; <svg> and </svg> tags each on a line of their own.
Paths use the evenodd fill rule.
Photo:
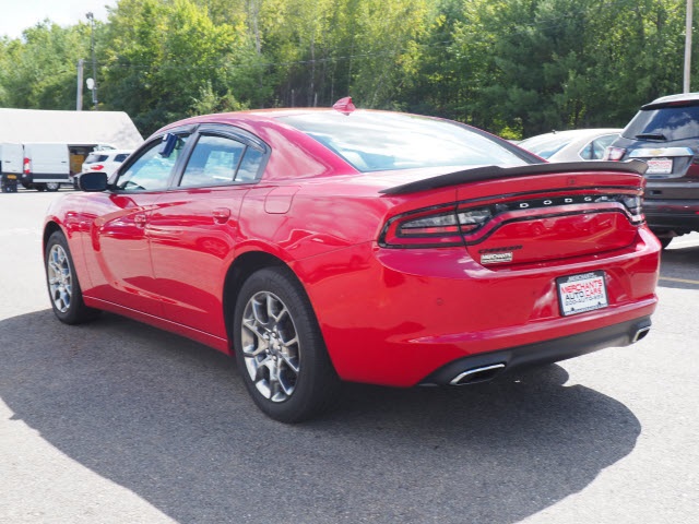
<svg viewBox="0 0 699 524">
<path fill-rule="evenodd" d="M 123 191 L 157 191 L 166 189 L 173 168 L 181 154 L 187 136 L 177 138 L 173 153 L 167 157 L 159 154 L 161 142 L 155 141 L 116 181 L 116 188 Z"/>
</svg>

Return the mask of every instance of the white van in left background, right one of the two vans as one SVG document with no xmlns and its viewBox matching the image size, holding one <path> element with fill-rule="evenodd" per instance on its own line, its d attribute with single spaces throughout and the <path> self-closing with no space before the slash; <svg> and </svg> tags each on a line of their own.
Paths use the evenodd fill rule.
<svg viewBox="0 0 699 524">
<path fill-rule="evenodd" d="M 20 181 L 38 191 L 58 191 L 61 183 L 71 183 L 68 144 L 25 143 Z"/>
</svg>

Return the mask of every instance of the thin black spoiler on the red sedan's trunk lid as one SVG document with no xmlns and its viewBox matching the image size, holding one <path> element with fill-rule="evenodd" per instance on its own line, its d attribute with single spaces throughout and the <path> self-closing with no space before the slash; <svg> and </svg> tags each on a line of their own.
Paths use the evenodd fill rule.
<svg viewBox="0 0 699 524">
<path fill-rule="evenodd" d="M 599 172 L 599 171 L 621 171 L 643 175 L 648 169 L 648 165 L 641 160 L 627 162 L 606 162 L 606 160 L 588 160 L 588 162 L 561 162 L 550 164 L 531 164 L 526 166 L 500 167 L 485 166 L 475 167 L 473 169 L 463 169 L 461 171 L 449 172 L 447 175 L 438 175 L 436 177 L 416 180 L 415 182 L 395 186 L 379 191 L 383 194 L 405 194 L 416 193 L 418 191 L 427 191 L 428 189 L 448 188 L 465 182 L 477 182 L 482 180 L 494 180 L 498 178 L 516 178 L 529 177 L 532 175 L 547 175 L 552 172 Z"/>
</svg>

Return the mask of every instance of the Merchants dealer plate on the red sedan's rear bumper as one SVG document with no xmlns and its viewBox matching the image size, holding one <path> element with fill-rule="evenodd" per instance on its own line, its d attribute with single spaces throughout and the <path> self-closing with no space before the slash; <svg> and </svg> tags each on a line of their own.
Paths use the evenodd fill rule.
<svg viewBox="0 0 699 524">
<path fill-rule="evenodd" d="M 609 305 L 603 271 L 561 276 L 556 278 L 556 285 L 560 314 L 564 317 L 606 308 Z"/>
</svg>

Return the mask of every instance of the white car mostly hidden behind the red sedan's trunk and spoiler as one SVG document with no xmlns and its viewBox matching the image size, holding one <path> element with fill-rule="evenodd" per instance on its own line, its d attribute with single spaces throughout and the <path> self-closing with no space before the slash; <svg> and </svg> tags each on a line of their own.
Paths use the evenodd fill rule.
<svg viewBox="0 0 699 524">
<path fill-rule="evenodd" d="M 601 160 L 604 150 L 621 133 L 621 129 L 576 129 L 537 134 L 521 141 L 520 147 L 548 162 Z"/>
</svg>

